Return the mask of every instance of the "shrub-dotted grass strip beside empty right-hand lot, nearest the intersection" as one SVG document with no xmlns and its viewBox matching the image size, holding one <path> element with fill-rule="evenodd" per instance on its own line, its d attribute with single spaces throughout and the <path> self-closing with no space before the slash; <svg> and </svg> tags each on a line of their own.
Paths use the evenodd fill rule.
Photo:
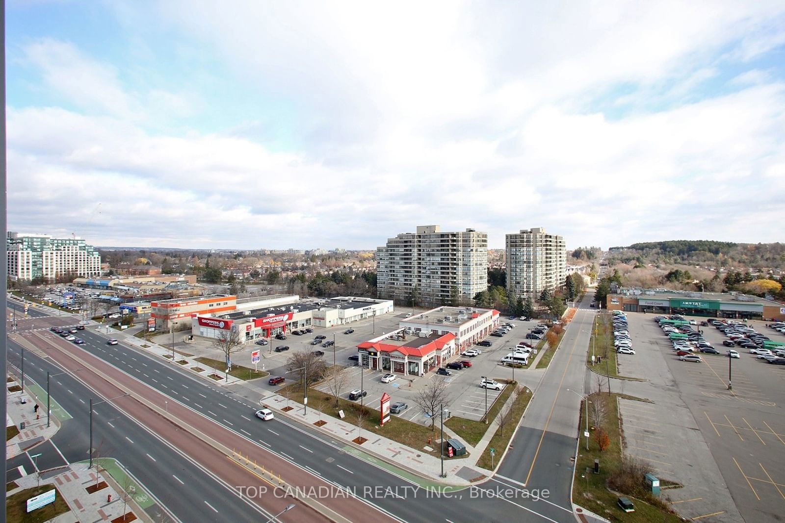
<svg viewBox="0 0 785 523">
<path fill-rule="evenodd" d="M 627 395 L 606 392 L 589 396 L 591 437 L 587 451 L 586 438 L 580 434 L 578 456 L 575 460 L 575 482 L 572 488 L 573 501 L 580 507 L 591 510 L 610 521 L 652 523 L 682 521 L 665 500 L 647 492 L 644 474 L 652 471 L 648 463 L 636 459 L 623 459 L 617 398 L 639 400 Z M 595 404 L 601 408 L 595 409 Z M 583 416 L 585 416 L 584 405 L 581 406 L 580 433 L 586 424 Z M 595 459 L 600 460 L 599 474 L 593 473 Z M 635 506 L 634 512 L 626 513 L 619 508 L 616 504 L 619 492 L 632 500 Z"/>
</svg>

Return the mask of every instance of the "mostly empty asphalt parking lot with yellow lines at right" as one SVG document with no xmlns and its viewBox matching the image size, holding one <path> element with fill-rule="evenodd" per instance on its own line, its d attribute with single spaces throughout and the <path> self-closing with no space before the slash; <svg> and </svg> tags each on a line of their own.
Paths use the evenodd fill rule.
<svg viewBox="0 0 785 523">
<path fill-rule="evenodd" d="M 637 354 L 619 355 L 619 371 L 649 381 L 623 383 L 623 391 L 654 400 L 622 402 L 627 454 L 648 461 L 655 474 L 685 485 L 668 491 L 685 517 L 780 519 L 785 506 L 785 368 L 739 347 L 740 358 L 730 360 L 725 350 L 731 347 L 722 345 L 727 338 L 711 325 L 693 328 L 702 329 L 722 354 L 700 354 L 699 363 L 679 361 L 652 321 L 654 315 L 627 317 Z M 749 325 L 785 341 L 763 321 Z"/>
</svg>

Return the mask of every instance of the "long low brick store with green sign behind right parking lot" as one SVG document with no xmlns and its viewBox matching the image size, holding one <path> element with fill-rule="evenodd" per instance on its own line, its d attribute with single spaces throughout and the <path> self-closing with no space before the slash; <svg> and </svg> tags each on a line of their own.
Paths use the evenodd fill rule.
<svg viewBox="0 0 785 523">
<path fill-rule="evenodd" d="M 620 289 L 605 299 L 609 311 L 684 314 L 710 318 L 785 320 L 785 305 L 740 292 Z"/>
</svg>

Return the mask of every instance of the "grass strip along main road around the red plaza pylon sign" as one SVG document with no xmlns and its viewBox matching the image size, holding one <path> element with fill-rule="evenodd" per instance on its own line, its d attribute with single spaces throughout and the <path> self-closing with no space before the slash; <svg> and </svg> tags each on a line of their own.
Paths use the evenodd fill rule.
<svg viewBox="0 0 785 523">
<path fill-rule="evenodd" d="M 392 441 L 397 441 L 411 449 L 416 449 L 418 452 L 428 454 L 429 456 L 439 456 L 438 445 L 434 443 L 440 437 L 439 419 L 436 419 L 434 429 L 431 430 L 430 426 L 425 427 L 419 423 L 408 421 L 407 419 L 398 416 L 390 416 L 390 419 L 383 426 L 379 424 L 381 412 L 376 409 L 371 409 L 367 405 L 360 406 L 360 401 L 349 401 L 345 398 L 338 398 L 338 406 L 335 405 L 335 398 L 333 395 L 316 390 L 315 383 L 309 388 L 308 405 L 312 409 L 322 413 L 323 418 L 333 420 L 341 419 L 338 411 L 343 411 L 344 418 L 342 421 L 353 425 L 355 427 L 352 436 L 370 438 L 370 434 L 384 436 Z M 290 402 L 294 401 L 298 405 L 295 408 L 302 408 L 303 390 L 301 382 L 290 383 L 286 387 L 281 387 L 276 391 L 284 398 L 288 398 Z M 289 403 L 290 403 L 289 402 Z M 446 424 L 446 423 L 445 423 Z M 447 439 L 445 437 L 445 439 Z M 425 446 L 428 445 L 432 450 L 428 451 Z M 468 454 L 466 454 L 468 456 Z M 462 456 L 463 457 L 463 456 Z"/>
</svg>

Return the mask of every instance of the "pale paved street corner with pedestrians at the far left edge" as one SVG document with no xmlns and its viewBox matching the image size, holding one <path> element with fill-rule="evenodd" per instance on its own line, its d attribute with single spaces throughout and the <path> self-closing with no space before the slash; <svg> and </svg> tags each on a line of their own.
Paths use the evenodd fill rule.
<svg viewBox="0 0 785 523">
<path fill-rule="evenodd" d="M 18 384 L 18 382 L 8 382 L 5 383 L 5 386 L 12 387 Z M 36 415 L 33 412 L 36 401 L 38 401 L 38 419 L 35 419 Z M 5 405 L 8 409 L 5 426 L 16 426 L 20 430 L 19 434 L 5 441 L 6 459 L 19 456 L 33 445 L 38 445 L 38 443 L 51 438 L 60 429 L 60 421 L 55 416 L 52 416 L 50 427 L 46 427 L 46 396 L 35 398 L 26 388 L 17 392 L 9 392 Z M 54 409 L 55 405 L 52 405 L 52 410 L 54 411 Z M 22 423 L 24 423 L 24 429 L 20 428 Z"/>
</svg>

